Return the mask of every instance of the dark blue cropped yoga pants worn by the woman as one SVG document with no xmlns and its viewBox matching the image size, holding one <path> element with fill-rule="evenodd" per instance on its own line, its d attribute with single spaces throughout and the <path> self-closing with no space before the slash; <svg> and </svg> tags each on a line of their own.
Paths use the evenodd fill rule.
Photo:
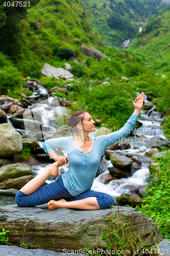
<svg viewBox="0 0 170 256">
<path fill-rule="evenodd" d="M 16 193 L 15 202 L 21 207 L 31 207 L 48 203 L 50 200 L 65 199 L 67 202 L 81 200 L 87 197 L 96 197 L 101 209 L 110 208 L 113 205 L 113 198 L 106 194 L 97 191 L 85 191 L 84 193 L 74 197 L 69 194 L 64 187 L 62 176 L 56 181 L 40 187 L 34 193 L 26 195 L 20 190 Z"/>
</svg>

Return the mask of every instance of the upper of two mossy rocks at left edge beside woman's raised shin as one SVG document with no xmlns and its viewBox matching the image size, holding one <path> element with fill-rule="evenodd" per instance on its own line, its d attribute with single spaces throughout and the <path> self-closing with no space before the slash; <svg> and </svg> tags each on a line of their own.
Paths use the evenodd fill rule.
<svg viewBox="0 0 170 256">
<path fill-rule="evenodd" d="M 30 166 L 25 163 L 7 164 L 0 168 L 0 182 L 26 175 L 32 175 L 32 170 Z"/>
</svg>

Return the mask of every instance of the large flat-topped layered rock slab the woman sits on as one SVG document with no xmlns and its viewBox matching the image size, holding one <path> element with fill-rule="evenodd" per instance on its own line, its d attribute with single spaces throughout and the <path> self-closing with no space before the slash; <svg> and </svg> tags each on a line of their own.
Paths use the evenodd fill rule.
<svg viewBox="0 0 170 256">
<path fill-rule="evenodd" d="M 74 208 L 49 211 L 47 204 L 37 207 L 7 205 L 0 208 L 0 229 L 4 227 L 10 230 L 8 236 L 14 244 L 27 241 L 28 246 L 39 249 L 49 249 L 50 246 L 51 250 L 58 252 L 84 247 L 92 249 L 92 245 L 106 247 L 107 241 L 102 236 L 111 224 L 104 220 L 106 217 L 112 218 L 114 222 L 121 222 L 122 225 L 126 224 L 130 240 L 138 232 L 142 242 L 147 241 L 147 245 L 155 245 L 155 242 L 162 239 L 162 234 L 152 219 L 137 209 L 121 206 L 112 206 L 109 211 Z M 148 238 L 152 232 L 153 236 Z M 121 231 L 119 237 L 123 237 Z M 136 240 L 135 244 L 140 246 L 140 240 Z"/>
</svg>

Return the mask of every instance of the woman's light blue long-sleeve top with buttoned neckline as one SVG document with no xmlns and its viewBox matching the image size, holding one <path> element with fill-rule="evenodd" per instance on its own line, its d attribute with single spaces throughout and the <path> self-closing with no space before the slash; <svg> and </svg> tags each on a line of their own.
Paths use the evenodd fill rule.
<svg viewBox="0 0 170 256">
<path fill-rule="evenodd" d="M 74 146 L 74 135 L 53 138 L 43 142 L 42 146 L 47 155 L 50 152 L 55 152 L 54 148 L 63 148 L 66 151 L 69 169 L 62 174 L 62 179 L 64 187 L 72 196 L 77 197 L 90 190 L 104 150 L 127 136 L 135 126 L 137 118 L 137 114 L 132 114 L 126 124 L 118 131 L 92 138 L 93 148 L 87 154 Z"/>
</svg>

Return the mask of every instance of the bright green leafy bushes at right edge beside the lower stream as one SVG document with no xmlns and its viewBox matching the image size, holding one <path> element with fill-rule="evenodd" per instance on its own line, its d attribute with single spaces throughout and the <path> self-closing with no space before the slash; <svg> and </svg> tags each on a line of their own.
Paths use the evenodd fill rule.
<svg viewBox="0 0 170 256">
<path fill-rule="evenodd" d="M 147 185 L 147 195 L 144 196 L 144 201 L 149 204 L 135 208 L 156 222 L 164 238 L 170 238 L 170 151 L 166 150 L 165 156 L 154 159 L 158 165 L 152 167 L 152 183 Z"/>
</svg>

